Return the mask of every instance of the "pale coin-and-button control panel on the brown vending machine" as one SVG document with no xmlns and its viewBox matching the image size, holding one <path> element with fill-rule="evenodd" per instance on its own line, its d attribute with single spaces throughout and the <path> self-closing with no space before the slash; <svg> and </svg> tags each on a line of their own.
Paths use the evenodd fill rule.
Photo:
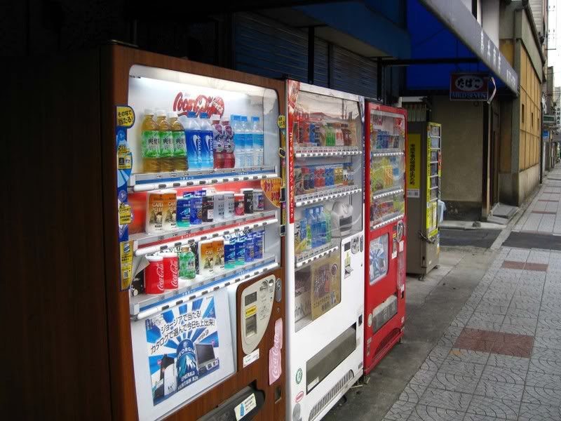
<svg viewBox="0 0 561 421">
<path fill-rule="evenodd" d="M 250 354 L 263 338 L 271 318 L 276 276 L 270 275 L 245 288 L 241 293 L 241 343 Z"/>
</svg>

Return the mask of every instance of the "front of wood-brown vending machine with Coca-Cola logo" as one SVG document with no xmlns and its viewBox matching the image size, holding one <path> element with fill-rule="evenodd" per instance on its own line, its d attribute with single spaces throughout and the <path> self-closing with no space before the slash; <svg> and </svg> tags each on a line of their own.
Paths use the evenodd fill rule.
<svg viewBox="0 0 561 421">
<path fill-rule="evenodd" d="M 284 83 L 122 46 L 107 67 L 119 418 L 284 420 Z"/>
</svg>

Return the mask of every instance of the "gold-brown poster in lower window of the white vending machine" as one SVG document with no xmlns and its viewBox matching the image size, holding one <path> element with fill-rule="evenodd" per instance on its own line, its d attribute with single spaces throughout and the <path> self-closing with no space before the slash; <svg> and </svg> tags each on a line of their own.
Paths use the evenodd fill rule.
<svg viewBox="0 0 561 421">
<path fill-rule="evenodd" d="M 330 255 L 311 265 L 311 285 L 311 317 L 316 320 L 341 302 L 339 255 Z"/>
</svg>

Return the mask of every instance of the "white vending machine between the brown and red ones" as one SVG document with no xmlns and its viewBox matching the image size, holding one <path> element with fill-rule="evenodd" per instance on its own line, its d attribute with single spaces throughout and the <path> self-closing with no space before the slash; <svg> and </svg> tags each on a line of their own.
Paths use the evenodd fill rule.
<svg viewBox="0 0 561 421">
<path fill-rule="evenodd" d="M 363 374 L 363 98 L 287 81 L 287 417 L 319 420 Z"/>
</svg>

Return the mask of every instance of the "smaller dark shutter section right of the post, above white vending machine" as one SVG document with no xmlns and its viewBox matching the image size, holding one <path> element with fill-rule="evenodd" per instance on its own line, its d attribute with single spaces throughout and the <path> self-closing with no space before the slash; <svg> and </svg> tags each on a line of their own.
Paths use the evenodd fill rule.
<svg viewBox="0 0 561 421">
<path fill-rule="evenodd" d="M 332 88 L 376 98 L 376 62 L 339 46 L 334 46 Z"/>
</svg>

